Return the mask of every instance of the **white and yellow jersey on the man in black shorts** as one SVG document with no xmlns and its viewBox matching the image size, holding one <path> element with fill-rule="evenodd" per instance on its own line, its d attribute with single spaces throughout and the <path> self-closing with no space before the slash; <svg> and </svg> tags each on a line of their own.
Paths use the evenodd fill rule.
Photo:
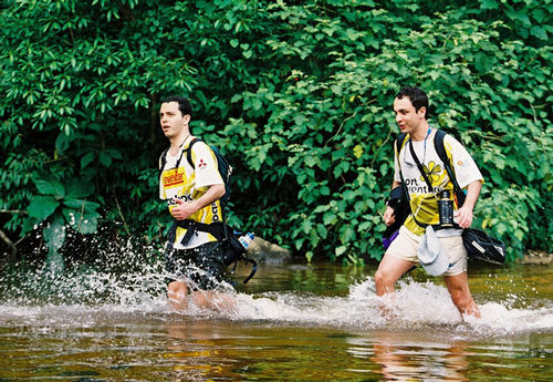
<svg viewBox="0 0 553 382">
<path fill-rule="evenodd" d="M 222 177 L 219 174 L 217 157 L 212 149 L 204 142 L 196 142 L 192 146 L 191 158 L 195 168 L 187 161 L 187 149 L 190 143 L 179 148 L 176 156 L 166 153 L 166 163 L 159 179 L 159 198 L 167 202 L 169 211 L 177 206 L 175 199 L 192 202 L 200 198 L 209 188 L 209 186 L 223 184 Z M 178 163 L 178 168 L 176 168 Z M 209 206 L 206 206 L 188 219 L 198 223 L 211 224 L 222 220 L 222 210 L 220 200 L 216 200 Z M 197 233 L 188 244 L 182 246 L 180 241 L 186 234 L 186 228 L 177 227 L 177 235 L 174 242 L 175 249 L 189 249 L 198 247 L 209 241 L 217 239 L 208 233 Z"/>
</svg>

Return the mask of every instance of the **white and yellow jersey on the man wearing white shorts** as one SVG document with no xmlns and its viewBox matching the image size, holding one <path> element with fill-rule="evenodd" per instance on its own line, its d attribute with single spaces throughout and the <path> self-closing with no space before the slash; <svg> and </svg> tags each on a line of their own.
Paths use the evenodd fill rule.
<svg viewBox="0 0 553 382">
<path fill-rule="evenodd" d="M 450 195 L 455 195 L 453 184 L 449 180 L 446 167 L 444 167 L 444 163 L 436 152 L 434 145 L 435 135 L 436 131 L 430 134 L 426 142 L 413 142 L 409 140 L 409 136 L 407 136 L 404 141 L 404 146 L 399 152 L 399 163 L 401 164 L 400 168 L 404 175 L 405 185 L 407 186 L 407 190 L 409 193 L 411 207 L 411 215 L 407 217 L 404 225 L 411 233 L 419 236 L 425 234 L 425 229 L 417 225 L 413 218 L 413 214 L 417 218 L 417 221 L 421 224 L 437 225 L 439 224 L 437 195 L 444 189 L 448 189 Z M 413 144 L 415 154 L 425 168 L 435 194 L 430 193 L 422 174 L 420 174 L 417 167 L 417 163 L 415 162 L 409 149 L 410 144 Z M 444 137 L 444 147 L 448 158 L 450 158 L 456 179 L 461 188 L 466 188 L 469 184 L 476 180 L 483 182 L 482 174 L 480 174 L 480 169 L 478 169 L 477 164 L 465 146 L 461 145 L 455 137 L 447 134 Z M 394 179 L 396 182 L 401 182 L 397 153 L 394 155 Z M 453 209 L 458 209 L 457 200 L 453 203 Z"/>
</svg>

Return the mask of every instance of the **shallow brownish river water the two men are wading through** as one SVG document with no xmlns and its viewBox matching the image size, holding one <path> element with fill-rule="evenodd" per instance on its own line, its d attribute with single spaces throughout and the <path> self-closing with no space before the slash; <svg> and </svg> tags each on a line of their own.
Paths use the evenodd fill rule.
<svg viewBox="0 0 553 382">
<path fill-rule="evenodd" d="M 422 270 L 388 299 L 376 265 L 265 265 L 230 311 L 178 313 L 158 269 L 4 272 L 0 381 L 553 380 L 553 267 L 471 265 L 465 321 Z"/>
</svg>

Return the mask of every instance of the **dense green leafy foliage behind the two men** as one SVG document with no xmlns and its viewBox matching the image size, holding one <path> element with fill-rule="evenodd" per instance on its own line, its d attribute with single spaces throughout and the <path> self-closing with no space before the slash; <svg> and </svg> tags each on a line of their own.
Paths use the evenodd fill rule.
<svg viewBox="0 0 553 382">
<path fill-rule="evenodd" d="M 157 113 L 184 94 L 236 167 L 233 225 L 309 259 L 379 259 L 390 105 L 418 84 L 482 169 L 477 224 L 510 259 L 551 251 L 551 0 L 3 4 L 0 207 L 28 211 L 2 218 L 13 235 L 45 220 L 58 247 L 100 210 L 163 234 Z"/>
</svg>

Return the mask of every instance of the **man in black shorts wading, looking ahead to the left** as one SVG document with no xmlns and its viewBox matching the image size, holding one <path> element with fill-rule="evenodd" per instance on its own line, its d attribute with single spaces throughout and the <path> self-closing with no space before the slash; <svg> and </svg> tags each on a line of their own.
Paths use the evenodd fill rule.
<svg viewBox="0 0 553 382">
<path fill-rule="evenodd" d="M 211 291 L 225 275 L 221 245 L 204 229 L 223 224 L 219 199 L 225 184 L 212 149 L 201 141 L 190 144 L 195 140 L 191 113 L 190 102 L 180 96 L 165 99 L 159 110 L 161 128 L 170 142 L 159 159 L 159 197 L 175 218 L 165 255 L 168 297 L 178 310 L 186 309 L 189 301 L 210 307 Z"/>
</svg>

